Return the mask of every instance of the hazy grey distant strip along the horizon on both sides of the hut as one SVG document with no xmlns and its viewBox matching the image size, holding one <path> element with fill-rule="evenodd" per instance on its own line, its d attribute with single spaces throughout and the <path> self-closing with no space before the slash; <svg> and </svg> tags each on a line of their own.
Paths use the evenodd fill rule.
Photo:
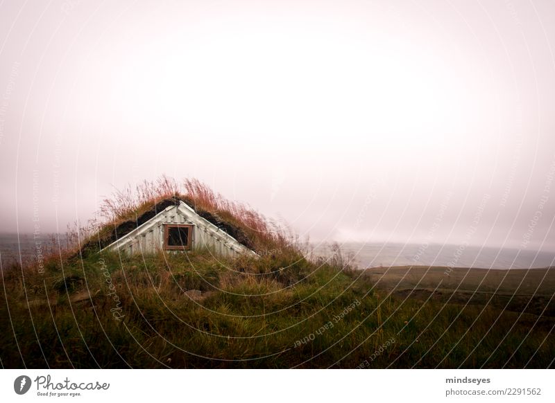
<svg viewBox="0 0 555 403">
<path fill-rule="evenodd" d="M 65 235 L 44 234 L 34 238 L 33 234 L 0 233 L 0 260 L 2 267 L 36 259 L 37 254 L 56 248 L 65 242 Z M 533 269 L 555 266 L 555 251 L 519 250 L 500 247 L 479 247 L 440 244 L 400 243 L 339 243 L 344 261 L 361 269 L 390 266 L 449 266 L 475 267 L 483 269 Z M 311 245 L 313 256 L 332 256 L 332 244 Z"/>
</svg>

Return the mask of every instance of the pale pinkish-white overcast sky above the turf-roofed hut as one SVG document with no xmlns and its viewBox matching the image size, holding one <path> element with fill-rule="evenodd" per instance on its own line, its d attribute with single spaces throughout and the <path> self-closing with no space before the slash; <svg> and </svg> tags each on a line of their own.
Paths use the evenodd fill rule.
<svg viewBox="0 0 555 403">
<path fill-rule="evenodd" d="M 0 231 L 167 174 L 312 240 L 554 250 L 554 46 L 553 1 L 3 1 Z"/>
</svg>

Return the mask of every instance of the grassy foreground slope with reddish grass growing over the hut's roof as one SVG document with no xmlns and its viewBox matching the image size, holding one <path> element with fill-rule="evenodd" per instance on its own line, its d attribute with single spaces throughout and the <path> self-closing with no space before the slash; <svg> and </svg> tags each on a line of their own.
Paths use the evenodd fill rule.
<svg viewBox="0 0 555 403">
<path fill-rule="evenodd" d="M 194 195 L 187 197 L 195 201 Z M 152 201 L 143 204 L 148 203 Z M 94 251 L 82 256 L 74 250 L 47 258 L 44 272 L 36 262 L 4 268 L 1 365 L 553 366 L 555 320 L 545 312 L 520 314 L 391 296 L 374 287 L 372 276 L 351 269 L 339 251 L 329 260 L 308 260 L 296 242 L 264 217 L 248 208 L 223 206 L 203 204 L 206 211 L 227 214 L 249 236 L 259 237 L 254 239 L 259 258 L 222 260 L 209 251 L 135 257 Z M 125 220 L 133 209 L 137 206 L 104 225 Z M 256 229 L 241 217 L 256 217 Z M 89 240 L 99 236 L 93 233 Z"/>
</svg>

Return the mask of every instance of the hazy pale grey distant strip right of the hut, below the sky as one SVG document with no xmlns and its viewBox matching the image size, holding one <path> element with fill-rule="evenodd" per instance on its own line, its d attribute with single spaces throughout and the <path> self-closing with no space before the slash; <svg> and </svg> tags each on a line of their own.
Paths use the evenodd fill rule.
<svg viewBox="0 0 555 403">
<path fill-rule="evenodd" d="M 439 244 L 345 242 L 343 256 L 353 256 L 360 268 L 380 266 L 450 266 L 484 269 L 530 269 L 555 266 L 555 252 Z M 315 245 L 314 253 L 332 253 L 330 244 Z"/>
</svg>

